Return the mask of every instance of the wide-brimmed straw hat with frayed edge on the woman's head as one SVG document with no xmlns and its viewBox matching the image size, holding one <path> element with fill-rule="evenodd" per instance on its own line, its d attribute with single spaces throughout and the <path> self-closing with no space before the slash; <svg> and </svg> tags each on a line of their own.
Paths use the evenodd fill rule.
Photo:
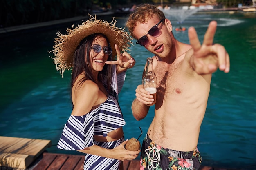
<svg viewBox="0 0 256 170">
<path fill-rule="evenodd" d="M 130 44 L 132 44 L 132 38 L 130 33 L 124 31 L 122 28 L 115 26 L 116 20 L 114 18 L 112 22 L 108 23 L 104 20 L 97 20 L 95 17 L 90 16 L 90 19 L 78 25 L 75 29 L 73 26 L 71 29 L 67 29 L 67 34 L 63 35 L 60 32 L 57 33 L 58 38 L 55 38 L 53 46 L 54 50 L 49 51 L 54 53 L 54 64 L 56 69 L 63 72 L 65 69 L 70 70 L 74 66 L 73 58 L 74 52 L 83 38 L 94 33 L 102 33 L 106 35 L 112 47 L 112 55 L 116 56 L 114 44 L 117 44 L 121 52 L 130 50 Z"/>
</svg>

